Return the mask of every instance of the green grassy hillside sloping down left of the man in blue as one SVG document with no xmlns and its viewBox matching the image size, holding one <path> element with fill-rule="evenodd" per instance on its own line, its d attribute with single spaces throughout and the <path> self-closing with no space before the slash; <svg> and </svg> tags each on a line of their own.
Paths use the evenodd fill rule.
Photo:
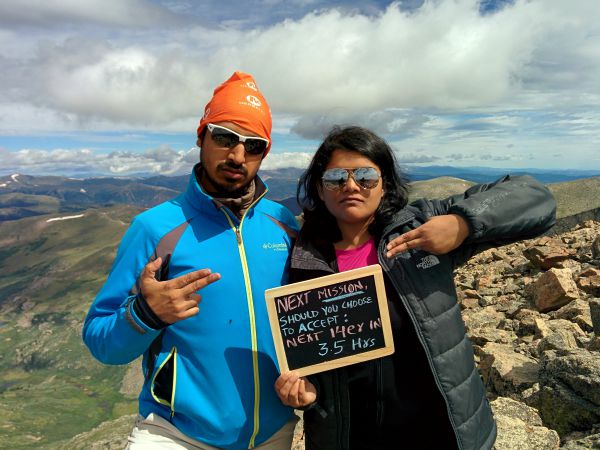
<svg viewBox="0 0 600 450">
<path fill-rule="evenodd" d="M 126 367 L 97 363 L 81 326 L 136 212 L 0 223 L 0 448 L 55 448 L 135 412 L 119 393 Z"/>
</svg>

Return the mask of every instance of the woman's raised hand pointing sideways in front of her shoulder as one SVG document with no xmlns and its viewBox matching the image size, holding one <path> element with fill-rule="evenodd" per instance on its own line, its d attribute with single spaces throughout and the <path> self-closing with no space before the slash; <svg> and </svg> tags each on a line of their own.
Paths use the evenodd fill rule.
<svg viewBox="0 0 600 450">
<path fill-rule="evenodd" d="M 467 221 L 457 214 L 434 216 L 414 230 L 401 234 L 387 245 L 386 256 L 420 248 L 434 255 L 443 255 L 457 248 L 469 235 Z"/>
</svg>

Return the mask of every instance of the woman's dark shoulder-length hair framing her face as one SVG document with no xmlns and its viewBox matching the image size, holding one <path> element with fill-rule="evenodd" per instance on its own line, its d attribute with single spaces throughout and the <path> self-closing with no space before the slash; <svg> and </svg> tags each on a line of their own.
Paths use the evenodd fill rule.
<svg viewBox="0 0 600 450">
<path fill-rule="evenodd" d="M 390 146 L 370 130 L 358 126 L 335 126 L 321 143 L 298 182 L 296 199 L 304 212 L 303 232 L 311 240 L 337 242 L 342 238 L 335 217 L 319 197 L 321 177 L 335 150 L 352 151 L 368 158 L 381 170 L 384 195 L 369 225 L 376 239 L 392 222 L 396 211 L 408 202 L 408 186 L 398 169 Z"/>
</svg>

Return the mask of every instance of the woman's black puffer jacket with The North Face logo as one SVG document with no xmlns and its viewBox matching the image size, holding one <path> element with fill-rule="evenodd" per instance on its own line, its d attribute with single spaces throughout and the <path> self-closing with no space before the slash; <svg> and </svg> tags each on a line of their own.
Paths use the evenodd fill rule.
<svg viewBox="0 0 600 450">
<path fill-rule="evenodd" d="M 453 270 L 486 248 L 545 232 L 555 209 L 552 194 L 533 178 L 505 176 L 398 211 L 376 237 L 396 351 L 309 377 L 318 396 L 304 413 L 307 450 L 491 449 L 496 425 L 465 334 Z M 385 257 L 391 239 L 443 214 L 469 223 L 469 237 L 458 249 Z M 332 243 L 301 233 L 291 281 L 336 271 Z"/>
</svg>

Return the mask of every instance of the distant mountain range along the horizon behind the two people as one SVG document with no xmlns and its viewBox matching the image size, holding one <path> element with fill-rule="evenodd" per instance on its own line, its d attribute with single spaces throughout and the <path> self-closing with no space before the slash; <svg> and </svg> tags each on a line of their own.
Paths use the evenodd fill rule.
<svg viewBox="0 0 600 450">
<path fill-rule="evenodd" d="M 260 172 L 269 186 L 267 197 L 283 203 L 296 215 L 300 214 L 296 186 L 302 172 L 296 168 Z M 576 214 L 600 206 L 600 201 L 595 196 L 600 178 L 581 178 L 588 172 L 531 169 L 520 173 L 531 174 L 544 183 L 552 180 L 550 189 L 561 195 L 564 190 L 576 190 L 577 186 L 581 186 L 579 195 L 575 195 L 575 192 L 567 194 L 573 194 L 575 204 L 570 204 L 564 214 L 561 211 L 562 215 Z M 431 166 L 411 168 L 407 175 L 412 180 L 411 198 L 414 199 L 419 196 L 439 198 L 446 193 L 459 193 L 476 182 L 491 182 L 503 174 L 499 169 Z M 0 177 L 0 221 L 118 204 L 149 208 L 183 192 L 188 180 L 189 175 L 78 179 L 13 174 Z M 582 192 L 585 195 L 581 195 Z"/>
</svg>

